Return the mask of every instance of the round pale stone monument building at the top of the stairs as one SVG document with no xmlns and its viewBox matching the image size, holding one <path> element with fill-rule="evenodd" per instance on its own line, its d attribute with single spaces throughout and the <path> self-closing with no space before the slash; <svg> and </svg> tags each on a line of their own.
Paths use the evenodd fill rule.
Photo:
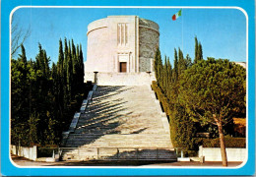
<svg viewBox="0 0 256 177">
<path fill-rule="evenodd" d="M 154 71 L 159 25 L 138 16 L 108 16 L 88 26 L 85 81 L 98 74 Z"/>
</svg>

